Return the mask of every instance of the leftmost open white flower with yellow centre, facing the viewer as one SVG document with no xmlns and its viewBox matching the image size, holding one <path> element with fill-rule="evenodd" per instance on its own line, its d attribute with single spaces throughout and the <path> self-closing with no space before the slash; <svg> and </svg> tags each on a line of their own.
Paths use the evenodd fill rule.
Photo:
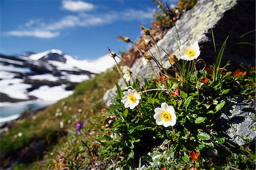
<svg viewBox="0 0 256 170">
<path fill-rule="evenodd" d="M 125 105 L 125 108 L 134 109 L 141 100 L 141 95 L 138 94 L 136 90 L 131 90 L 123 92 L 123 98 L 121 102 Z"/>
</svg>

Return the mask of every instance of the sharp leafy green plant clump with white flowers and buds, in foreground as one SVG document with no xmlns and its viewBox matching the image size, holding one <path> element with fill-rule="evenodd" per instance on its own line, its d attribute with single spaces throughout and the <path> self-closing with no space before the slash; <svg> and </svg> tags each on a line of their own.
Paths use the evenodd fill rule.
<svg viewBox="0 0 256 170">
<path fill-rule="evenodd" d="M 168 6 L 167 11 L 170 14 Z M 155 42 L 149 29 L 141 29 Z M 198 59 L 197 41 L 179 41 L 174 53 L 166 53 L 155 42 L 158 56 L 139 52 L 146 64 L 152 67 L 153 61 L 159 68 L 158 73 L 152 69 L 155 79 L 142 81 L 129 67 L 117 63 L 127 87 L 122 90 L 117 84 L 118 96 L 97 138 L 102 146 L 98 153 L 111 160 L 112 168 L 254 168 L 253 142 L 239 148 L 221 129 L 221 114 L 229 99 L 242 94 L 251 100 L 255 94 L 255 68 L 232 73 L 226 70 L 229 63 L 222 65 L 227 41 L 228 37 L 217 53 L 213 36 L 216 62 L 203 69 L 197 69 L 197 63 L 203 61 Z M 167 63 L 162 62 L 160 49 L 166 53 Z"/>
</svg>

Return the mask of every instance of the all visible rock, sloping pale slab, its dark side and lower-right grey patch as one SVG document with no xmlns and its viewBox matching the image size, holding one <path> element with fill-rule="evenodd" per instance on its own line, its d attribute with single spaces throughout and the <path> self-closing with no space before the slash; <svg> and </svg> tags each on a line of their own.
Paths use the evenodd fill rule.
<svg viewBox="0 0 256 170">
<path fill-rule="evenodd" d="M 199 58 L 203 58 L 207 64 L 212 64 L 216 56 L 213 50 L 212 28 L 217 49 L 220 49 L 222 42 L 227 36 L 230 36 L 224 53 L 224 61 L 231 61 L 233 67 L 240 64 L 248 65 L 249 63 L 255 65 L 255 48 L 238 44 L 242 41 L 255 43 L 255 32 L 241 38 L 244 33 L 255 29 L 255 1 L 201 0 L 177 20 L 176 27 L 179 31 L 181 44 L 189 40 L 199 42 L 201 50 Z M 163 39 L 158 41 L 158 46 L 166 50 L 167 53 L 176 52 L 177 39 L 176 30 L 172 27 Z M 156 58 L 159 58 L 156 48 L 151 48 L 150 51 L 154 56 L 158 56 Z M 163 50 L 160 50 L 160 56 L 164 63 L 166 53 Z M 152 65 L 156 66 L 153 62 Z M 154 68 L 144 65 L 142 58 L 139 58 L 131 67 L 131 72 L 134 78 L 150 78 L 152 75 L 154 76 L 152 73 Z M 118 84 L 122 89 L 127 88 L 122 79 L 119 80 Z M 103 99 L 106 105 L 112 103 L 117 95 L 116 90 L 117 88 L 113 87 L 106 91 Z M 225 129 L 226 134 L 237 145 L 243 145 L 245 141 L 241 138 L 242 136 L 255 139 L 255 118 L 253 118 L 255 117 L 255 103 L 248 105 L 241 102 L 236 105 L 233 104 L 232 107 L 229 112 L 222 115 L 228 124 Z M 238 122 L 238 120 L 240 121 Z"/>
</svg>

